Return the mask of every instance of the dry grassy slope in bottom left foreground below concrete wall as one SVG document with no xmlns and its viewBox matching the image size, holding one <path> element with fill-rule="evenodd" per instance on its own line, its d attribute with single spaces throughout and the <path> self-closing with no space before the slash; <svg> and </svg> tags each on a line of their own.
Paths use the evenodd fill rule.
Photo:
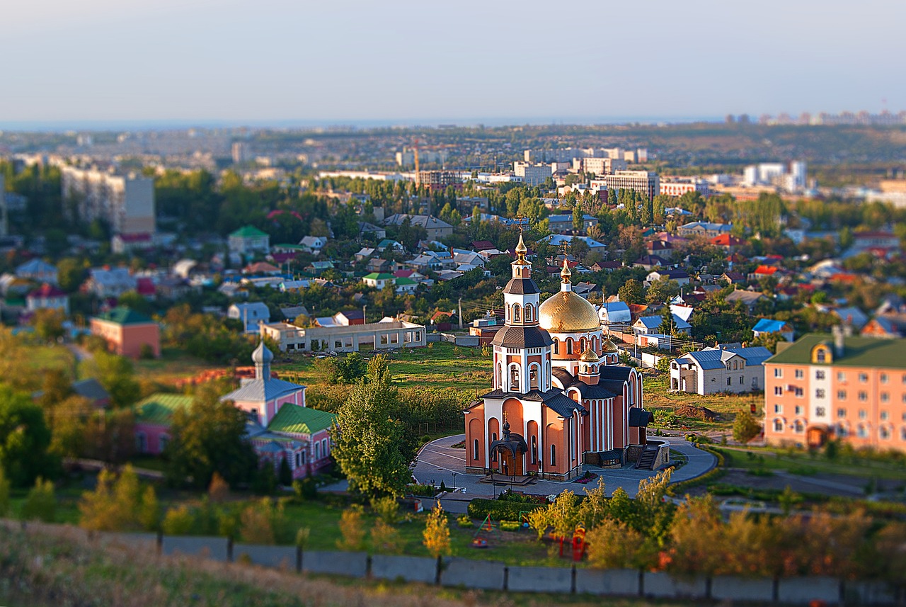
<svg viewBox="0 0 906 607">
<path fill-rule="evenodd" d="M 423 584 L 310 577 L 246 564 L 139 553 L 128 546 L 92 544 L 72 530 L 0 527 L 0 604 L 217 605 L 217 607 L 474 607 L 548 604 L 643 607 L 637 600 L 567 595 L 482 593 Z M 657 603 L 659 605 L 681 603 Z"/>
</svg>

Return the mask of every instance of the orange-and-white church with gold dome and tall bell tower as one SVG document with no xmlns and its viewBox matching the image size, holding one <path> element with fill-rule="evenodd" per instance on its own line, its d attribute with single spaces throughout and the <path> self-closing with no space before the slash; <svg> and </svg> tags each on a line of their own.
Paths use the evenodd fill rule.
<svg viewBox="0 0 906 607">
<path fill-rule="evenodd" d="M 466 411 L 466 470 L 569 480 L 586 460 L 625 462 L 644 447 L 652 419 L 641 374 L 618 363 L 594 306 L 573 293 L 565 260 L 560 292 L 540 304 L 526 252 L 519 236 L 505 325 L 491 342 L 494 390 Z"/>
</svg>

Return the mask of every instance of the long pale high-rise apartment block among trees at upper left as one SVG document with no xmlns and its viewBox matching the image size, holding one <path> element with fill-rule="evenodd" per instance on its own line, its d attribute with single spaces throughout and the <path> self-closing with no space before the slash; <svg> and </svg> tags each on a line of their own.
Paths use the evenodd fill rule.
<svg viewBox="0 0 906 607">
<path fill-rule="evenodd" d="M 63 198 L 77 203 L 79 217 L 107 221 L 116 234 L 153 234 L 154 179 L 98 169 L 61 167 Z"/>
</svg>

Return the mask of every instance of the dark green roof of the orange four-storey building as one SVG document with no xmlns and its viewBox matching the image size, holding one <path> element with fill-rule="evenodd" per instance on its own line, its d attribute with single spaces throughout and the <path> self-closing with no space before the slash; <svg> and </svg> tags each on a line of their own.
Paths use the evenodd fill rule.
<svg viewBox="0 0 906 607">
<path fill-rule="evenodd" d="M 812 364 L 812 348 L 821 342 L 828 343 L 833 351 L 833 335 L 809 333 L 786 347 L 782 352 L 777 352 L 765 363 Z M 843 356 L 837 356 L 834 352 L 832 364 L 848 367 L 906 369 L 906 340 L 845 337 L 843 338 Z"/>
</svg>

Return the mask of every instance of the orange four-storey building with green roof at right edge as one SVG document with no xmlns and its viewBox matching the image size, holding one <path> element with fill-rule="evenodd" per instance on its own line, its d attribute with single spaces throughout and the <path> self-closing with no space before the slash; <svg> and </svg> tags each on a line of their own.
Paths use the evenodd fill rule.
<svg viewBox="0 0 906 607">
<path fill-rule="evenodd" d="M 906 340 L 848 333 L 805 335 L 765 361 L 768 443 L 906 450 Z"/>
</svg>

